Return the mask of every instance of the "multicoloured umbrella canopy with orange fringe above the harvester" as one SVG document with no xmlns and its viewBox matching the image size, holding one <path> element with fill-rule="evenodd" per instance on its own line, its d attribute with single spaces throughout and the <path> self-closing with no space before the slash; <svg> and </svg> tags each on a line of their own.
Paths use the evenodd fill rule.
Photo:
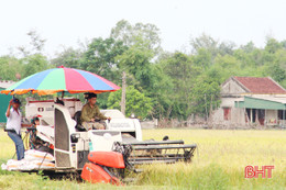
<svg viewBox="0 0 286 190">
<path fill-rule="evenodd" d="M 120 87 L 96 74 L 61 66 L 29 76 L 1 93 L 23 94 L 31 91 L 44 96 L 65 91 L 101 93 L 119 89 Z"/>
</svg>

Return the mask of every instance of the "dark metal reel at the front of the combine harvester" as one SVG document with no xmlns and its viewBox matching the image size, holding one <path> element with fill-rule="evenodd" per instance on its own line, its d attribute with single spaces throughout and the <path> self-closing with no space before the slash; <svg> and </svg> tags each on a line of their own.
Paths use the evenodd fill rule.
<svg viewBox="0 0 286 190">
<path fill-rule="evenodd" d="M 189 163 L 197 145 L 185 145 L 184 141 L 116 142 L 113 150 L 123 155 L 127 168 L 142 164 L 176 161 Z"/>
</svg>

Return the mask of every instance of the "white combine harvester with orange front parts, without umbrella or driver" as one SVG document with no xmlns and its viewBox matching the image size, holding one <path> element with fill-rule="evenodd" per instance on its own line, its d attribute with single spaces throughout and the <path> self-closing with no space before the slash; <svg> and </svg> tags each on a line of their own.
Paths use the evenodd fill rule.
<svg viewBox="0 0 286 190">
<path fill-rule="evenodd" d="M 101 110 L 112 118 L 106 122 L 107 128 L 87 132 L 78 124 L 80 100 L 63 102 L 65 105 L 54 100 L 30 100 L 25 107 L 28 116 L 41 115 L 37 128 L 53 139 L 55 168 L 44 169 L 44 174 L 82 171 L 81 178 L 87 181 L 118 185 L 124 172 L 116 175 L 112 168 L 136 171 L 136 165 L 190 161 L 194 156 L 196 145 L 185 145 L 184 141 L 142 141 L 139 120 L 127 119 L 119 110 Z M 54 128 L 54 134 L 45 128 Z"/>
</svg>

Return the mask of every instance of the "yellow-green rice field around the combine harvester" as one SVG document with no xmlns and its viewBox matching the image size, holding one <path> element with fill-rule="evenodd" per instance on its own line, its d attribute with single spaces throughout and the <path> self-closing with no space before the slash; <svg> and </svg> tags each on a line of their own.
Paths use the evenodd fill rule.
<svg viewBox="0 0 286 190">
<path fill-rule="evenodd" d="M 286 131 L 143 130 L 144 139 L 165 135 L 198 145 L 191 164 L 142 166 L 144 171 L 124 187 L 0 170 L 0 189 L 286 189 Z M 0 146 L 2 164 L 14 154 L 2 130 Z M 275 168 L 272 178 L 245 179 L 248 165 Z"/>
</svg>

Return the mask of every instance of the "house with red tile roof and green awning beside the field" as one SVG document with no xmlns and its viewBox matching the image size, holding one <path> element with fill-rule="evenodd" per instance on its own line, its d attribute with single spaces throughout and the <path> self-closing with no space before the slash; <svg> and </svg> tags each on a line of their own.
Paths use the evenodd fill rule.
<svg viewBox="0 0 286 190">
<path fill-rule="evenodd" d="M 231 77 L 211 122 L 229 127 L 286 125 L 286 90 L 270 77 Z"/>
</svg>

